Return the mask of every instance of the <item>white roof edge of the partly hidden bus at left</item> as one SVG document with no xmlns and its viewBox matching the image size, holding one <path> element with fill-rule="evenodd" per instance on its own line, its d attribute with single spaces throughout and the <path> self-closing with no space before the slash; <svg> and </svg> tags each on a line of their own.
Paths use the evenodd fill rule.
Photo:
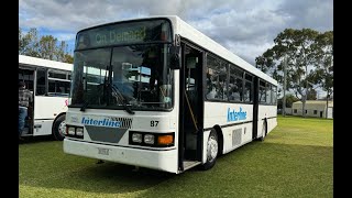
<svg viewBox="0 0 352 198">
<path fill-rule="evenodd" d="M 55 62 L 50 59 L 43 59 L 32 56 L 19 55 L 19 64 L 28 65 L 28 66 L 37 66 L 37 67 L 45 67 L 45 68 L 55 68 L 62 70 L 72 70 L 73 64 L 63 63 L 63 62 Z"/>
</svg>

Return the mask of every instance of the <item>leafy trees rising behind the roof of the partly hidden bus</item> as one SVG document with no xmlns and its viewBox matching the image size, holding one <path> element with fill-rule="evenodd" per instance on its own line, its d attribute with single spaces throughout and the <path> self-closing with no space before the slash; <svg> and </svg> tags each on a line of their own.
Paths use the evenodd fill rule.
<svg viewBox="0 0 352 198">
<path fill-rule="evenodd" d="M 68 52 L 65 41 L 58 41 L 53 35 L 40 36 L 36 29 L 32 28 L 23 33 L 19 28 L 19 54 L 44 59 L 74 63 L 74 57 Z"/>
</svg>

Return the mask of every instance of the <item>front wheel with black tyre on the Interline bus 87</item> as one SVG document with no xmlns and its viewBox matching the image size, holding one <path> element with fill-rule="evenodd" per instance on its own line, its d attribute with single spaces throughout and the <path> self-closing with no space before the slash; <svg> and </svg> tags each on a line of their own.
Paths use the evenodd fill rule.
<svg viewBox="0 0 352 198">
<path fill-rule="evenodd" d="M 219 154 L 218 134 L 215 129 L 211 130 L 207 142 L 207 162 L 201 166 L 202 169 L 210 169 L 217 162 Z"/>
</svg>

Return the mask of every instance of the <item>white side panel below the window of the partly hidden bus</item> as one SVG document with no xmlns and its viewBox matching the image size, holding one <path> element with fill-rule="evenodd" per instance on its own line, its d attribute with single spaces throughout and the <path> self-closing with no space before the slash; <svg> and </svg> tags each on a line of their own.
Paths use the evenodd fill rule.
<svg viewBox="0 0 352 198">
<path fill-rule="evenodd" d="M 61 112 L 67 111 L 67 98 L 65 97 L 34 97 L 34 119 L 55 119 Z"/>
</svg>

